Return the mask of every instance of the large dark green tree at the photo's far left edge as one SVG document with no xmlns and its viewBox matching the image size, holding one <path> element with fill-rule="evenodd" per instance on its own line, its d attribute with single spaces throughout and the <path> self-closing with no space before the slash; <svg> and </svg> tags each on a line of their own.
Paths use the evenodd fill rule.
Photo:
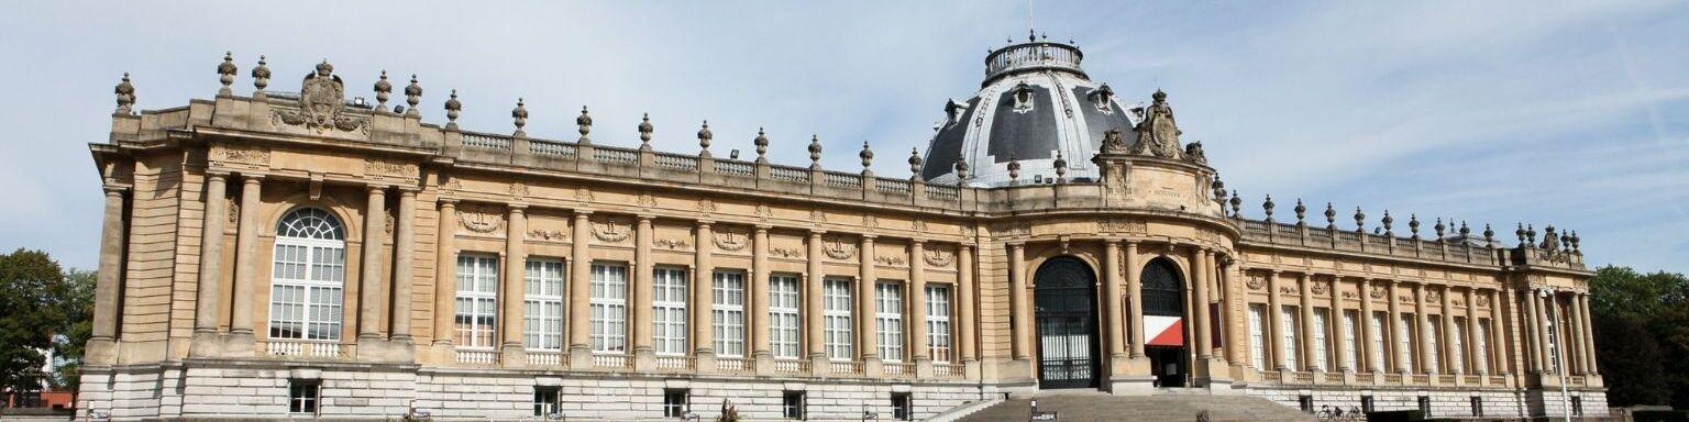
<svg viewBox="0 0 1689 422">
<path fill-rule="evenodd" d="M 57 300 L 62 282 L 64 272 L 46 252 L 0 255 L 0 390 L 41 390 L 42 351 L 68 316 Z"/>
</svg>

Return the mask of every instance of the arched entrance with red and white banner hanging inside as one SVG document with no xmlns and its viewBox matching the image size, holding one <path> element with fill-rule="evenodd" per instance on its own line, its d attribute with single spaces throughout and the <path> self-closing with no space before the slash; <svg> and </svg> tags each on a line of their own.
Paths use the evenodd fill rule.
<svg viewBox="0 0 1689 422">
<path fill-rule="evenodd" d="M 1184 336 L 1184 284 L 1167 258 L 1152 260 L 1138 279 L 1143 295 L 1143 354 L 1157 387 L 1186 387 L 1191 356 Z"/>
</svg>

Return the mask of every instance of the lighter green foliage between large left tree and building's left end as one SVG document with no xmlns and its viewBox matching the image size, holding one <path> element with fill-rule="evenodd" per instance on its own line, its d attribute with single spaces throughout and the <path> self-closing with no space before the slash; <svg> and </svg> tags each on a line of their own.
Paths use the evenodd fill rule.
<svg viewBox="0 0 1689 422">
<path fill-rule="evenodd" d="M 56 299 L 66 316 L 57 334 L 52 336 L 52 354 L 61 360 L 52 375 L 54 387 L 76 392 L 81 385 L 83 353 L 88 339 L 93 338 L 95 327 L 96 282 L 98 275 L 95 272 L 73 268 L 64 275 L 64 282 L 59 284 Z"/>
</svg>

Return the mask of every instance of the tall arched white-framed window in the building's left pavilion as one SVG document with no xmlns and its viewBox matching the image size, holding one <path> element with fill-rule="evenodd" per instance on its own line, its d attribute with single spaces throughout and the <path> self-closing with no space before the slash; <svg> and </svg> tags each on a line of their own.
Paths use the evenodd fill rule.
<svg viewBox="0 0 1689 422">
<path fill-rule="evenodd" d="M 275 225 L 270 267 L 270 338 L 338 341 L 346 284 L 346 230 L 319 208 L 299 208 Z"/>
</svg>

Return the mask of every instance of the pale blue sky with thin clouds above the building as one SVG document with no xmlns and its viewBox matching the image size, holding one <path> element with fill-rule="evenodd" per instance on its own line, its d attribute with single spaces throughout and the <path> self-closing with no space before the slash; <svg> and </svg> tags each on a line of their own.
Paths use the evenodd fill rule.
<svg viewBox="0 0 1689 422">
<path fill-rule="evenodd" d="M 1496 225 L 1572 228 L 1591 263 L 1689 272 L 1689 7 L 1682 2 L 1035 2 L 1034 24 L 1074 39 L 1123 98 L 1169 93 L 1260 216 L 1297 197 L 1351 228 L 1355 206 Z M 86 143 L 105 142 L 111 84 L 133 73 L 140 108 L 216 93 L 233 51 L 269 56 L 270 89 L 329 59 L 350 95 L 387 69 L 419 74 L 424 118 L 456 88 L 466 128 L 569 138 L 588 105 L 595 140 L 692 152 L 758 127 L 770 159 L 882 176 L 926 147 L 946 98 L 980 86 L 985 52 L 1027 32 L 1025 2 L 30 2 L 0 14 L 0 248 L 73 267 L 98 255 L 100 187 Z M 395 103 L 402 96 L 395 96 Z M 1316 221 L 1322 223 L 1322 221 Z M 1512 241 L 1508 241 L 1512 243 Z"/>
</svg>

